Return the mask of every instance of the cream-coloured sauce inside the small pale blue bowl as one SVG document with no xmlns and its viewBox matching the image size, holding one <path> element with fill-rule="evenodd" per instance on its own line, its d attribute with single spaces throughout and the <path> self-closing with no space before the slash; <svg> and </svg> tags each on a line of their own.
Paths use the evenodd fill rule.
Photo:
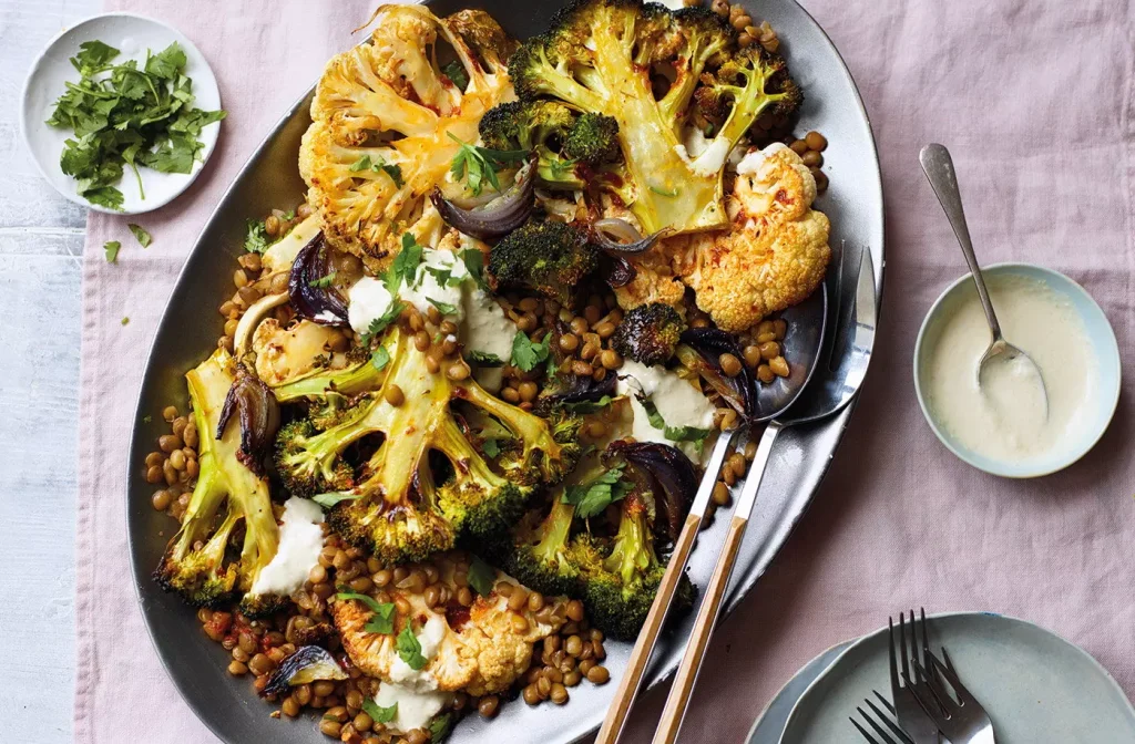
<svg viewBox="0 0 1135 744">
<path fill-rule="evenodd" d="M 1071 303 L 1044 282 L 1004 276 L 986 282 L 1006 339 L 1036 366 L 1023 358 L 994 362 L 978 386 L 990 331 L 970 288 L 931 352 L 927 403 L 938 421 L 975 453 L 1010 462 L 1041 458 L 1086 425 L 1084 412 L 1098 392 L 1092 344 Z"/>
</svg>

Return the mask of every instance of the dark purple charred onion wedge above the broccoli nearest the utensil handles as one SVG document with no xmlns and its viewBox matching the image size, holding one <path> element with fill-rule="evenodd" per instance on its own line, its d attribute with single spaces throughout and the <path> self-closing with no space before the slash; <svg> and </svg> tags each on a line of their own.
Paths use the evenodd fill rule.
<svg viewBox="0 0 1135 744">
<path fill-rule="evenodd" d="M 690 458 L 670 445 L 625 439 L 611 442 L 607 451 L 649 473 L 657 482 L 661 492 L 654 494 L 657 514 L 654 531 L 661 538 L 678 540 L 698 490 L 698 472 Z"/>
</svg>

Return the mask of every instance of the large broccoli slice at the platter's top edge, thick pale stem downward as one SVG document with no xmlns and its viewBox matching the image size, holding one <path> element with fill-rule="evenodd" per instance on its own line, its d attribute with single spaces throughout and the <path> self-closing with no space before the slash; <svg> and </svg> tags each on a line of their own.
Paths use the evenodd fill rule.
<svg viewBox="0 0 1135 744">
<path fill-rule="evenodd" d="M 670 81 L 657 95 L 655 71 Z M 516 50 L 508 73 L 522 101 L 560 101 L 616 121 L 623 159 L 594 183 L 627 204 L 646 232 L 724 227 L 730 151 L 758 116 L 789 113 L 800 102 L 783 60 L 739 52 L 735 33 L 708 8 L 671 11 L 641 0 L 575 0 Z M 699 86 L 715 93 L 696 96 Z M 696 101 L 713 103 L 723 121 L 691 158 L 682 130 Z"/>
</svg>

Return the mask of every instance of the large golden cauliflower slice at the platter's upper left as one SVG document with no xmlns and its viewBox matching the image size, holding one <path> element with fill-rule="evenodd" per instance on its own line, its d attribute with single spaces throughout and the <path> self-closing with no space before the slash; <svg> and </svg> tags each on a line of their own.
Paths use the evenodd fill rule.
<svg viewBox="0 0 1135 744">
<path fill-rule="evenodd" d="M 300 172 L 327 240 L 378 273 L 404 232 L 424 245 L 439 237 L 443 223 L 427 195 L 446 180 L 460 147 L 454 137 L 476 141 L 481 115 L 513 91 L 495 51 L 481 46 L 505 40 L 487 15 L 440 19 L 421 6 L 385 6 L 376 18 L 371 43 L 337 54 L 323 70 Z M 464 92 L 437 67 L 442 42 L 465 68 Z"/>
</svg>

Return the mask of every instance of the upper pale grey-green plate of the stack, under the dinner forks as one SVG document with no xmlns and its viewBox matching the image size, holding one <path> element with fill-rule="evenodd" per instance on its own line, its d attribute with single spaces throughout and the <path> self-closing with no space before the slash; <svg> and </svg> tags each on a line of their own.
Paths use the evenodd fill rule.
<svg viewBox="0 0 1135 744">
<path fill-rule="evenodd" d="M 1135 709 L 1088 653 L 1042 627 L 989 612 L 928 620 L 966 687 L 981 701 L 999 744 L 1135 742 Z M 848 722 L 877 690 L 890 697 L 888 631 L 849 646 L 800 696 L 782 744 L 861 744 Z M 777 739 L 767 739 L 775 742 Z"/>
</svg>

